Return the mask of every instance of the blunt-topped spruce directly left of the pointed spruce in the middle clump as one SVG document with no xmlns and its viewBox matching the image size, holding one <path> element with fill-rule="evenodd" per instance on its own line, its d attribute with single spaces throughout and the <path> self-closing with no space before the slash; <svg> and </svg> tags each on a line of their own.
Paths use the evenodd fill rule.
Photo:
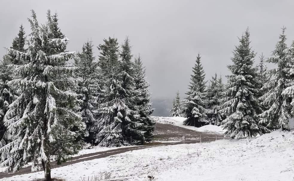
<svg viewBox="0 0 294 181">
<path fill-rule="evenodd" d="M 116 91 L 115 86 L 117 83 L 120 83 L 118 82 L 119 46 L 116 38 L 109 37 L 108 40 L 103 39 L 103 41 L 104 44 L 99 44 L 99 46 L 97 46 L 98 50 L 100 50 L 100 55 L 98 56 L 98 66 L 100 68 L 100 87 L 103 91 L 99 98 L 99 116 L 94 124 L 94 131 L 96 133 L 95 142 L 103 146 L 109 146 L 111 144 L 115 145 L 118 143 L 116 140 L 113 140 L 112 143 L 108 142 L 107 139 L 111 139 L 111 137 L 107 138 L 104 136 L 111 131 L 111 127 L 107 128 L 107 130 L 103 130 L 103 128 L 111 125 L 112 121 L 114 121 L 113 117 L 115 117 L 113 113 L 111 113 L 111 115 L 107 115 L 107 111 L 111 112 L 110 105 L 113 103 L 111 101 L 116 98 L 116 93 L 112 92 L 112 90 Z M 109 107 L 110 110 L 103 110 L 104 106 Z M 104 112 L 104 114 L 100 114 L 100 112 Z M 112 120 L 110 120 L 110 118 L 112 118 Z M 103 130 L 103 132 L 98 134 L 101 130 Z"/>
</svg>

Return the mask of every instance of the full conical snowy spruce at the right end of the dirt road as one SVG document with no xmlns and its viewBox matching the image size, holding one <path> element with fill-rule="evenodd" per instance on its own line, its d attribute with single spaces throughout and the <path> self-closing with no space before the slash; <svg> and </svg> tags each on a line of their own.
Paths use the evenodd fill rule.
<svg viewBox="0 0 294 181">
<path fill-rule="evenodd" d="M 250 47 L 249 36 L 247 28 L 239 39 L 240 44 L 233 51 L 233 64 L 228 66 L 232 75 L 227 76 L 229 86 L 220 110 L 226 116 L 222 121 L 223 127 L 227 129 L 225 136 L 232 139 L 250 138 L 267 131 L 258 124 L 258 114 L 262 109 L 256 98 L 257 69 L 253 67 L 255 52 Z"/>
</svg>

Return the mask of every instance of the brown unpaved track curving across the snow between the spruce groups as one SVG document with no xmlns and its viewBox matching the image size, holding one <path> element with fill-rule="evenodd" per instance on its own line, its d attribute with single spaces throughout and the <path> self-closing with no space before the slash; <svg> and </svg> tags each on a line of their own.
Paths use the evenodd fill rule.
<svg viewBox="0 0 294 181">
<path fill-rule="evenodd" d="M 182 127 L 177 127 L 173 126 L 170 124 L 160 124 L 156 123 L 155 127 L 155 136 L 154 140 L 164 140 L 164 141 L 179 141 L 182 140 L 182 137 L 185 136 L 185 144 L 190 144 L 190 143 L 199 143 L 200 142 L 200 134 L 201 134 L 201 142 L 211 142 L 217 139 L 223 139 L 223 135 L 220 134 L 212 134 L 212 133 L 200 133 L 194 130 L 189 130 L 186 128 Z M 142 146 L 136 146 L 136 147 L 124 147 L 124 148 L 117 148 L 113 150 L 108 150 L 108 151 L 102 151 L 102 152 L 97 152 L 97 153 L 89 153 L 86 155 L 81 155 L 77 157 L 73 157 L 71 160 L 68 162 L 63 163 L 62 165 L 57 165 L 56 162 L 51 162 L 51 169 L 52 168 L 57 168 L 57 167 L 63 167 L 66 165 L 71 165 L 74 163 L 78 162 L 83 162 L 83 161 L 88 161 L 92 159 L 98 159 L 98 158 L 105 158 L 107 156 L 112 156 L 116 155 L 119 153 L 125 153 L 127 151 L 131 150 L 141 150 L 145 148 L 150 148 L 150 147 L 156 147 L 156 146 L 163 146 L 163 145 L 179 145 L 183 144 L 183 141 L 180 142 L 173 142 L 173 143 L 160 143 L 160 142 L 153 142 L 147 145 L 142 145 Z M 40 165 L 42 168 L 42 165 Z M 51 171 L 52 172 L 52 171 Z M 54 170 L 53 170 L 54 172 Z M 0 179 L 4 177 L 12 177 L 16 175 L 22 175 L 22 174 L 29 174 L 31 173 L 31 167 L 25 167 L 21 168 L 18 172 L 16 173 L 0 173 Z"/>
</svg>

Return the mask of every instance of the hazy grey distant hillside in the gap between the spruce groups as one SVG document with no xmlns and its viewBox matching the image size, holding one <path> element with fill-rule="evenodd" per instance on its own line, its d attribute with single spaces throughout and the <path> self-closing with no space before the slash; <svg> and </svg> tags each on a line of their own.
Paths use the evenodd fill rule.
<svg viewBox="0 0 294 181">
<path fill-rule="evenodd" d="M 152 99 L 153 102 L 153 108 L 155 108 L 155 111 L 153 112 L 153 116 L 169 116 L 170 115 L 170 109 L 173 105 L 173 99 L 172 98 L 154 98 Z"/>
</svg>

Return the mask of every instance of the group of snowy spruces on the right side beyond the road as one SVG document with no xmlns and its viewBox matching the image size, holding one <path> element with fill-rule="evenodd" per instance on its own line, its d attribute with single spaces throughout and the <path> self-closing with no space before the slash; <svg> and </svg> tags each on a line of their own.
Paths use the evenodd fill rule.
<svg viewBox="0 0 294 181">
<path fill-rule="evenodd" d="M 173 102 L 171 116 L 185 116 L 184 124 L 200 127 L 222 125 L 225 136 L 241 139 L 267 133 L 272 129 L 291 129 L 294 117 L 294 41 L 286 45 L 286 28 L 266 61 L 277 66 L 267 70 L 264 56 L 254 66 L 256 53 L 250 46 L 247 29 L 233 50 L 232 64 L 227 67 L 228 83 L 217 74 L 206 88 L 205 73 L 198 54 L 189 90 L 183 103 L 179 94 Z"/>
</svg>

